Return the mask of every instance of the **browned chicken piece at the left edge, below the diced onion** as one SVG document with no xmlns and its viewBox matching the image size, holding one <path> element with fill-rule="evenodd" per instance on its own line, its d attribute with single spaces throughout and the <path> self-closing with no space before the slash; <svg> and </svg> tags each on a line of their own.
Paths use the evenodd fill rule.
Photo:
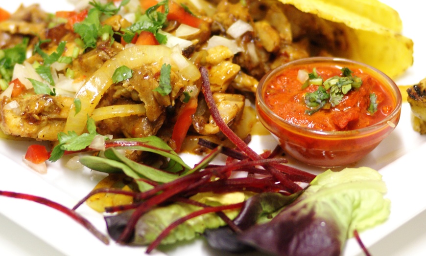
<svg viewBox="0 0 426 256">
<path fill-rule="evenodd" d="M 5 134 L 57 141 L 73 99 L 37 94 L 26 98 L 4 97 L 0 102 L 0 128 Z"/>
</svg>

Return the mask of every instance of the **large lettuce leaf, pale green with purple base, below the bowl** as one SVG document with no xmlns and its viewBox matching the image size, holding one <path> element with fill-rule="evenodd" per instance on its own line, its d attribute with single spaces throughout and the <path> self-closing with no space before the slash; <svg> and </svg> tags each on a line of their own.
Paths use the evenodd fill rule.
<svg viewBox="0 0 426 256">
<path fill-rule="evenodd" d="M 340 255 L 346 240 L 384 222 L 390 201 L 379 172 L 367 168 L 319 174 L 270 222 L 239 236 L 274 255 Z"/>
</svg>

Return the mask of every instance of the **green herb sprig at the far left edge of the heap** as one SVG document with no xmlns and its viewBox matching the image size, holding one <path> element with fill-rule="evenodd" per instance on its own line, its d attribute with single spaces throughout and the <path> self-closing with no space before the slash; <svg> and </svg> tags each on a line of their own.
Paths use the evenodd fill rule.
<svg viewBox="0 0 426 256">
<path fill-rule="evenodd" d="M 12 80 L 13 67 L 15 64 L 23 64 L 26 59 L 26 47 L 29 39 L 24 38 L 12 48 L 0 50 L 0 78 L 7 83 Z"/>
</svg>

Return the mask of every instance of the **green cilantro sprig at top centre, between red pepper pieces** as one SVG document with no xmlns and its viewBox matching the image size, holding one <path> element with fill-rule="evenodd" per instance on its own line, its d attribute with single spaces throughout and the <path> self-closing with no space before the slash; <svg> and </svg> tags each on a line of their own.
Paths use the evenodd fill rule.
<svg viewBox="0 0 426 256">
<path fill-rule="evenodd" d="M 164 6 L 164 12 L 157 11 L 160 6 Z M 167 21 L 167 14 L 168 0 L 164 0 L 152 7 L 149 7 L 145 14 L 142 15 L 137 22 L 121 31 L 123 33 L 121 36 L 126 43 L 130 43 L 136 33 L 149 31 L 154 34 L 160 44 L 164 44 L 167 42 L 167 38 L 165 35 L 158 33 L 158 30 L 165 25 Z"/>
</svg>

